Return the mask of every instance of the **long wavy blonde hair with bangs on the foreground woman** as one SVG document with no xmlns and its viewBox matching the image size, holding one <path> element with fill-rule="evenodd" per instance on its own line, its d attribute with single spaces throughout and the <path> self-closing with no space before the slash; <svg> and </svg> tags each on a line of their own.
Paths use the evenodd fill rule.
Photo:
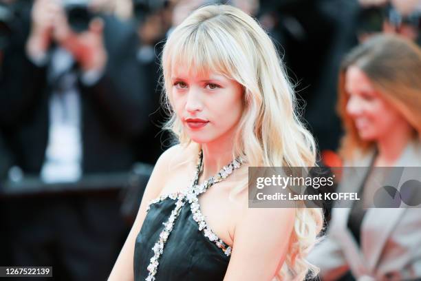
<svg viewBox="0 0 421 281">
<path fill-rule="evenodd" d="M 233 140 L 233 157 L 241 156 L 250 166 L 314 166 L 314 138 L 295 111 L 294 90 L 279 54 L 268 34 L 248 14 L 232 6 L 204 6 L 173 30 L 162 52 L 170 110 L 171 71 L 179 64 L 186 65 L 186 72 L 211 70 L 243 86 L 245 110 Z M 165 128 L 171 129 L 182 145 L 191 143 L 173 112 Z M 318 272 L 305 256 L 322 224 L 321 209 L 296 210 L 290 249 L 276 274 L 279 280 L 303 280 L 309 270 Z"/>
</svg>

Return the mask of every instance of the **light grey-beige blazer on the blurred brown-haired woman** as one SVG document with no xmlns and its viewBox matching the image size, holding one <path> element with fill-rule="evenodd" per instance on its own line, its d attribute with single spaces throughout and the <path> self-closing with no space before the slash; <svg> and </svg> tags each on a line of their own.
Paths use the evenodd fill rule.
<svg viewBox="0 0 421 281">
<path fill-rule="evenodd" d="M 370 152 L 352 166 L 368 167 L 373 156 Z M 396 167 L 421 167 L 420 143 L 407 145 Z M 363 180 L 344 177 L 338 191 L 357 192 Z M 420 208 L 367 209 L 360 246 L 347 228 L 350 210 L 332 209 L 325 239 L 310 251 L 308 260 L 320 267 L 324 281 L 336 280 L 348 270 L 359 281 L 421 280 Z"/>
</svg>

